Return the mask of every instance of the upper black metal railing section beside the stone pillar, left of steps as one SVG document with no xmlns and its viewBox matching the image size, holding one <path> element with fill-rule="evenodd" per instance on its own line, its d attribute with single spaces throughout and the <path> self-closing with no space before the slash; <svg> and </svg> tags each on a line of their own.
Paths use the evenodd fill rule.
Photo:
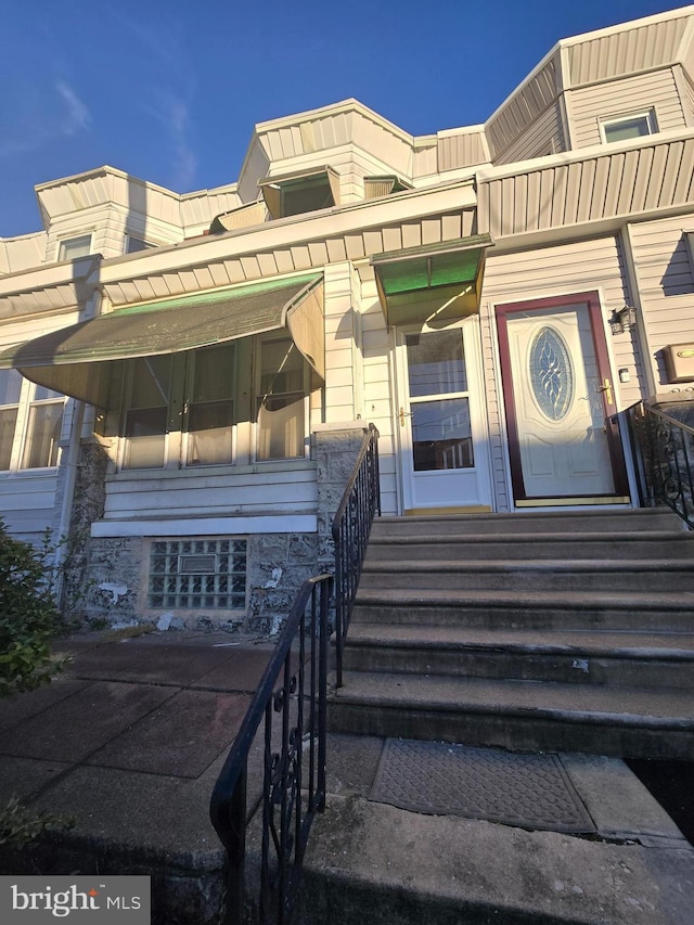
<svg viewBox="0 0 694 925">
<path fill-rule="evenodd" d="M 335 543 L 335 676 L 343 684 L 343 653 L 373 518 L 381 516 L 378 431 L 364 434 L 343 500 L 333 521 Z"/>
</svg>

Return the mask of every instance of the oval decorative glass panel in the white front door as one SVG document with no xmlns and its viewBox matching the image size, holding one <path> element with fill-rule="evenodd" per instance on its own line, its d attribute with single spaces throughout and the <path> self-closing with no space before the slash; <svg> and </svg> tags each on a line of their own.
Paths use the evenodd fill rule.
<svg viewBox="0 0 694 925">
<path fill-rule="evenodd" d="M 532 338 L 529 367 L 540 411 L 551 421 L 561 421 L 574 400 L 574 368 L 566 343 L 554 327 L 544 325 Z"/>
</svg>

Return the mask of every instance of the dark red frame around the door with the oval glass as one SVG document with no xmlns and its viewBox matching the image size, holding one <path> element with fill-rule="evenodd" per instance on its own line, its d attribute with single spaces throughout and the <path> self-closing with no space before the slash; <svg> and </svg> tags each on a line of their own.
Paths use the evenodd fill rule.
<svg viewBox="0 0 694 925">
<path fill-rule="evenodd" d="M 551 506 L 552 500 L 538 496 L 528 496 L 523 480 L 523 464 L 520 459 L 520 441 L 518 436 L 518 422 L 516 416 L 516 401 L 511 370 L 511 350 L 509 343 L 509 316 L 522 311 L 538 311 L 542 309 L 565 308 L 571 305 L 586 305 L 590 320 L 593 348 L 595 350 L 595 362 L 597 363 L 601 382 L 608 387 L 601 389 L 603 413 L 605 417 L 605 433 L 607 437 L 607 449 L 615 484 L 614 494 L 605 496 L 573 496 L 567 492 L 567 499 L 575 500 L 578 504 L 605 503 L 604 499 L 615 499 L 614 503 L 624 503 L 622 499 L 629 497 L 629 481 L 625 462 L 624 449 L 617 427 L 611 425 L 611 417 L 618 411 L 617 396 L 615 390 L 615 377 L 612 371 L 607 338 L 605 336 L 605 323 L 596 291 L 582 293 L 567 293 L 562 296 L 550 296 L 535 298 L 524 301 L 512 301 L 497 305 L 494 312 L 497 319 L 497 336 L 499 338 L 499 361 L 501 367 L 501 385 L 503 402 L 506 415 L 506 442 L 509 447 L 509 461 L 511 465 L 511 484 L 513 500 L 516 506 L 519 504 L 534 504 L 537 506 Z M 560 500 L 560 496 L 556 500 Z M 581 500 L 584 499 L 584 500 Z M 600 500 L 599 500 L 600 499 Z M 524 504 L 526 502 L 526 504 Z M 561 501 L 560 501 L 561 503 Z"/>
</svg>

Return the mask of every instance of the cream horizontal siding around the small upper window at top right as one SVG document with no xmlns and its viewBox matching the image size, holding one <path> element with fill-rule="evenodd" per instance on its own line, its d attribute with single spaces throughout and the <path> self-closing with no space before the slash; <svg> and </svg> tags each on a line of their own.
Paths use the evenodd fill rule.
<svg viewBox="0 0 694 925">
<path fill-rule="evenodd" d="M 601 119 L 655 110 L 660 131 L 684 128 L 686 120 L 671 67 L 571 91 L 575 147 L 601 144 Z"/>
</svg>

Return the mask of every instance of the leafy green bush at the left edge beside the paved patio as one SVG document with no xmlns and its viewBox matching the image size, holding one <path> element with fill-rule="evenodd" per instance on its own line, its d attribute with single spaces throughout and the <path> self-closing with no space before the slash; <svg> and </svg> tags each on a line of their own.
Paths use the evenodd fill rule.
<svg viewBox="0 0 694 925">
<path fill-rule="evenodd" d="M 0 521 L 0 696 L 48 683 L 62 667 L 51 655 L 61 626 L 51 591 L 52 550 L 10 537 Z"/>
</svg>

